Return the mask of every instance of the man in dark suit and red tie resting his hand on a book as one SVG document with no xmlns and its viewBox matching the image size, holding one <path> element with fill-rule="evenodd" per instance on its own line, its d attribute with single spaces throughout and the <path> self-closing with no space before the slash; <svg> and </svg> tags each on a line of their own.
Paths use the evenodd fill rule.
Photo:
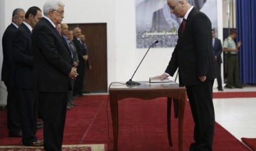
<svg viewBox="0 0 256 151">
<path fill-rule="evenodd" d="M 179 26 L 177 45 L 166 71 L 155 78 L 165 79 L 179 69 L 179 83 L 186 86 L 195 123 L 195 142 L 190 144 L 189 150 L 212 150 L 216 61 L 211 44 L 211 21 L 187 0 L 168 0 L 167 4 L 171 13 L 183 18 L 183 22 Z"/>
</svg>

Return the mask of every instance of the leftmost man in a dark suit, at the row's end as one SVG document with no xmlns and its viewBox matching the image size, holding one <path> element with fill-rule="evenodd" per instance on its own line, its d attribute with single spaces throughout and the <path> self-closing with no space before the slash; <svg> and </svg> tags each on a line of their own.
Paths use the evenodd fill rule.
<svg viewBox="0 0 256 151">
<path fill-rule="evenodd" d="M 12 23 L 6 28 L 3 34 L 3 66 L 2 66 L 2 81 L 7 87 L 7 127 L 9 137 L 21 137 L 21 127 L 19 118 L 18 98 L 14 90 L 14 83 L 11 80 L 14 72 L 13 62 L 13 40 L 15 32 L 25 19 L 25 11 L 21 8 L 13 10 Z"/>
</svg>

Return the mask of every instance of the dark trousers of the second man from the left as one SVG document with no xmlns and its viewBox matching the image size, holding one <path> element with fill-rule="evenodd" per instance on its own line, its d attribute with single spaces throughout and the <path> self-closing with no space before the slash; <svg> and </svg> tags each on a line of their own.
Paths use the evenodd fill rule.
<svg viewBox="0 0 256 151">
<path fill-rule="evenodd" d="M 31 144 L 37 141 L 36 120 L 37 106 L 35 100 L 35 90 L 17 89 L 20 106 L 21 130 L 23 144 Z"/>
</svg>

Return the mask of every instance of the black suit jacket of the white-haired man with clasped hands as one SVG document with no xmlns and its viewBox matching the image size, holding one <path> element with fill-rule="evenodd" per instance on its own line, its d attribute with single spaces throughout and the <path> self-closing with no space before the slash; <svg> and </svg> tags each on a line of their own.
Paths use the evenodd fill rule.
<svg viewBox="0 0 256 151">
<path fill-rule="evenodd" d="M 72 59 L 66 42 L 46 18 L 32 32 L 36 89 L 41 92 L 67 92 Z"/>
</svg>

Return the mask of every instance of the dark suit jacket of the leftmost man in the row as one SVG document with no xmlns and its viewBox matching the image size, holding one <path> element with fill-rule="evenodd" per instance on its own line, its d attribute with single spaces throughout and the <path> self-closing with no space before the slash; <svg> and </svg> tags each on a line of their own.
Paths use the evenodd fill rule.
<svg viewBox="0 0 256 151">
<path fill-rule="evenodd" d="M 3 65 L 2 65 L 2 81 L 9 83 L 11 73 L 14 69 L 12 51 L 13 51 L 13 40 L 15 38 L 15 32 L 17 27 L 10 24 L 6 31 L 3 33 L 2 47 L 3 47 Z"/>
</svg>

